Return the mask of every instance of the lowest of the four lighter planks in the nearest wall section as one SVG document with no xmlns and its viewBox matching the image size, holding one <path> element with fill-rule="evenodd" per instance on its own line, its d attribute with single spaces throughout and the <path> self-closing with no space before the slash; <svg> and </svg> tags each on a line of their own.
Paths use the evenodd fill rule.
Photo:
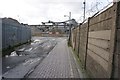
<svg viewBox="0 0 120 80">
<path fill-rule="evenodd" d="M 96 55 L 94 52 L 87 50 L 88 55 L 91 56 L 98 64 L 100 64 L 106 71 L 108 70 L 108 62 Z"/>
</svg>

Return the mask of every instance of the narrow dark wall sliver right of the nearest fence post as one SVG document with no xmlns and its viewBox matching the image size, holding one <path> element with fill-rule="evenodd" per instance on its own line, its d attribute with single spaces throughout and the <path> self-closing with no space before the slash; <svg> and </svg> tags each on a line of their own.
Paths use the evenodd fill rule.
<svg viewBox="0 0 120 80">
<path fill-rule="evenodd" d="M 120 2 L 116 5 L 118 8 L 116 13 L 116 41 L 115 41 L 115 54 L 114 54 L 114 66 L 113 77 L 120 78 Z"/>
</svg>

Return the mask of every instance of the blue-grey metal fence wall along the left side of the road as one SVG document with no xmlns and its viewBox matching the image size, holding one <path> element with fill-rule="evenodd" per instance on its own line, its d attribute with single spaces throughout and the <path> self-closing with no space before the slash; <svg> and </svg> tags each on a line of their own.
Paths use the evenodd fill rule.
<svg viewBox="0 0 120 80">
<path fill-rule="evenodd" d="M 11 18 L 2 19 L 2 49 L 31 40 L 31 29 Z"/>
</svg>

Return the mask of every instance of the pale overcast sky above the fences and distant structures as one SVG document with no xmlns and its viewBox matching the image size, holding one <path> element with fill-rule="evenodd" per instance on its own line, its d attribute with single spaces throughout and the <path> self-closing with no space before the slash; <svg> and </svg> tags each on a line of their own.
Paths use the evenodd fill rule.
<svg viewBox="0 0 120 80">
<path fill-rule="evenodd" d="M 41 24 L 41 22 L 65 21 L 72 13 L 72 18 L 80 22 L 83 18 L 84 0 L 0 0 L 0 17 L 11 17 L 25 24 Z M 96 3 L 99 2 L 99 3 Z M 86 12 L 98 4 L 86 16 L 92 15 L 112 0 L 86 0 Z M 93 11 L 93 12 L 92 12 Z"/>
</svg>

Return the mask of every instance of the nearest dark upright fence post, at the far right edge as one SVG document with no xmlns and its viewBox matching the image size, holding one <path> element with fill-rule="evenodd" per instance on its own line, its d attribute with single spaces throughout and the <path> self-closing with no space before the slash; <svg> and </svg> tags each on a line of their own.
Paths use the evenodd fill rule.
<svg viewBox="0 0 120 80">
<path fill-rule="evenodd" d="M 120 2 L 114 2 L 116 8 L 115 14 L 115 26 L 114 30 L 114 42 L 113 42 L 113 59 L 112 59 L 112 74 L 111 78 L 120 78 L 120 70 L 119 70 L 119 54 L 120 54 Z"/>
</svg>

